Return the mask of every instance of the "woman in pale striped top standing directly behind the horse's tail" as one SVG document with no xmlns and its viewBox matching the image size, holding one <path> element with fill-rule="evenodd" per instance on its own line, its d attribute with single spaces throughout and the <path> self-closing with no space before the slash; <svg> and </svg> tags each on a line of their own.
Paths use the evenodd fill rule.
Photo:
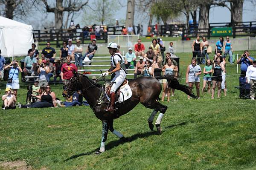
<svg viewBox="0 0 256 170">
<path fill-rule="evenodd" d="M 167 64 L 165 64 L 162 68 L 162 72 L 165 75 L 174 75 L 175 72 L 178 72 L 177 66 L 172 63 L 172 59 L 167 59 Z M 163 79 L 163 94 L 162 94 L 162 101 L 164 101 L 164 97 L 167 93 L 167 101 L 170 101 L 171 89 L 168 87 L 168 82 L 166 79 Z M 174 91 L 173 91 L 174 93 Z"/>
</svg>

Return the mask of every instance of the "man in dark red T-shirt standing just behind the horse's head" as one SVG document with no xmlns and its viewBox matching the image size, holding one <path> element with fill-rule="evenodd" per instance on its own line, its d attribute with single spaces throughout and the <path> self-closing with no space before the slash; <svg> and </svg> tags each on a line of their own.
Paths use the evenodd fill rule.
<svg viewBox="0 0 256 170">
<path fill-rule="evenodd" d="M 75 64 L 70 63 L 70 57 L 67 57 L 67 63 L 64 63 L 61 66 L 61 80 L 63 81 L 64 86 L 66 86 L 73 76 L 73 71 L 77 72 L 77 67 Z"/>
</svg>

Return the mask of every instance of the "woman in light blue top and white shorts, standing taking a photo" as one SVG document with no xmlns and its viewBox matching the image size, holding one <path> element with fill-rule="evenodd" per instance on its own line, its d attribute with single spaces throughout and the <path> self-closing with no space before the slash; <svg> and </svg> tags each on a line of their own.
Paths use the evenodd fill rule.
<svg viewBox="0 0 256 170">
<path fill-rule="evenodd" d="M 17 99 L 17 92 L 20 88 L 19 83 L 19 72 L 22 72 L 22 69 L 19 66 L 19 63 L 16 60 L 13 60 L 12 63 L 5 66 L 4 69 L 11 68 L 9 71 L 9 77 L 8 79 L 12 79 L 12 82 L 6 84 L 6 88 L 10 88 L 13 91 L 13 94 L 15 95 L 15 98 Z"/>
</svg>

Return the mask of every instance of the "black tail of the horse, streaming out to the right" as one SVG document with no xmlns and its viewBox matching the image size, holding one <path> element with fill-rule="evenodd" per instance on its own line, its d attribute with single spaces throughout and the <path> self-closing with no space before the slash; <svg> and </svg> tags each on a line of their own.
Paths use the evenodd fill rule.
<svg viewBox="0 0 256 170">
<path fill-rule="evenodd" d="M 197 98 L 194 93 L 192 93 L 192 90 L 189 86 L 180 84 L 177 78 L 175 78 L 174 75 L 162 75 L 156 77 L 156 79 L 166 79 L 168 81 L 169 88 L 177 89 L 180 91 L 183 91 L 187 95 L 190 95 L 192 98 Z"/>
</svg>

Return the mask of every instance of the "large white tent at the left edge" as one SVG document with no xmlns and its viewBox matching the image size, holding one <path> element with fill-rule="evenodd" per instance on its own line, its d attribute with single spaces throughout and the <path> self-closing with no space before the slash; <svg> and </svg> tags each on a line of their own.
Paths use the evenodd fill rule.
<svg viewBox="0 0 256 170">
<path fill-rule="evenodd" d="M 31 25 L 0 16 L 0 49 L 2 56 L 27 55 L 33 40 Z"/>
</svg>

